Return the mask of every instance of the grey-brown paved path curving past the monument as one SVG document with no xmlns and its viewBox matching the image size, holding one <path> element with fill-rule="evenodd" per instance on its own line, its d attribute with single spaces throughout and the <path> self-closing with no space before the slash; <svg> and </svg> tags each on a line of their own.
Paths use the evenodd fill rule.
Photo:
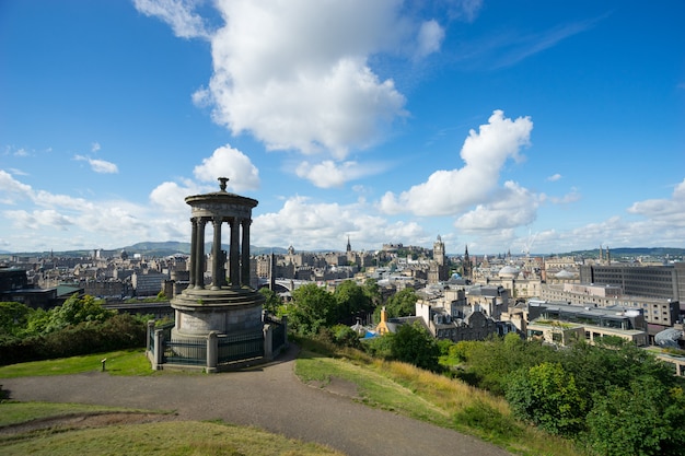
<svg viewBox="0 0 685 456">
<path fill-rule="evenodd" d="M 475 437 L 304 385 L 293 373 L 295 354 L 291 346 L 279 362 L 247 372 L 142 377 L 91 372 L 1 383 L 20 401 L 175 410 L 179 419 L 255 425 L 349 456 L 508 455 Z"/>
</svg>

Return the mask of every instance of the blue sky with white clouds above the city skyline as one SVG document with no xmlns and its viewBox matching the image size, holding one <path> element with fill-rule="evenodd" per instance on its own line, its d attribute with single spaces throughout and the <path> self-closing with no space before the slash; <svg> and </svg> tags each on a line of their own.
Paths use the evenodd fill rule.
<svg viewBox="0 0 685 456">
<path fill-rule="evenodd" d="M 425 3 L 0 2 L 0 250 L 685 247 L 684 2 Z"/>
</svg>

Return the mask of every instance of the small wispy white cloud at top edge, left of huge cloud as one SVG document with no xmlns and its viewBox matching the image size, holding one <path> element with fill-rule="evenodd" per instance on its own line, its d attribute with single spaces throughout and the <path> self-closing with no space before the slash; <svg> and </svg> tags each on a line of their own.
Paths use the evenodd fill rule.
<svg viewBox="0 0 685 456">
<path fill-rule="evenodd" d="M 208 38 L 202 17 L 195 13 L 201 0 L 133 0 L 136 9 L 169 24 L 179 38 Z"/>
</svg>

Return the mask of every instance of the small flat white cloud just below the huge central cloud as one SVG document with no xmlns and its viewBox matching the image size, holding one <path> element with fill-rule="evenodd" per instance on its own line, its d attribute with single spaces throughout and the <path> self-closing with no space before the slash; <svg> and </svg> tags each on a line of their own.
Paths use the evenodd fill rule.
<svg viewBox="0 0 685 456">
<path fill-rule="evenodd" d="M 325 160 L 321 163 L 302 162 L 295 174 L 305 178 L 318 188 L 341 187 L 346 182 L 356 180 L 379 173 L 383 166 L 374 164 L 361 165 L 357 162 L 336 163 Z"/>
</svg>

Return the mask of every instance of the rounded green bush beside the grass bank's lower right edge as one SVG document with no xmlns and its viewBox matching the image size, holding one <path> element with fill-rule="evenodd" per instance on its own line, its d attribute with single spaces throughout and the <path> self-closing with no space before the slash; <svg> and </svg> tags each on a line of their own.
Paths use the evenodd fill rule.
<svg viewBox="0 0 685 456">
<path fill-rule="evenodd" d="M 518 371 L 507 388 L 507 401 L 515 417 L 552 434 L 572 436 L 583 430 L 584 391 L 559 363 Z"/>
</svg>

